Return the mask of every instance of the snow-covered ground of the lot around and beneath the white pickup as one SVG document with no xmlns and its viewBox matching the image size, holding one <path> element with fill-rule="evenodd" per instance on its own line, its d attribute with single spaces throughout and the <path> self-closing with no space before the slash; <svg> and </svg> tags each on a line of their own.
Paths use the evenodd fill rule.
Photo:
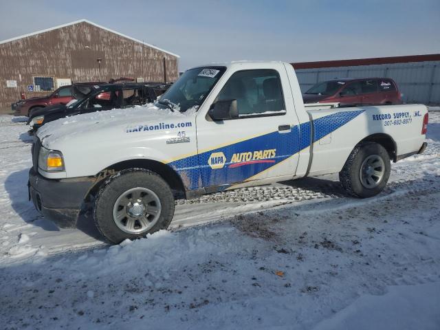
<svg viewBox="0 0 440 330">
<path fill-rule="evenodd" d="M 440 329 L 440 113 L 388 188 L 337 176 L 178 201 L 173 230 L 109 246 L 28 201 L 30 137 L 0 116 L 5 329 Z"/>
</svg>

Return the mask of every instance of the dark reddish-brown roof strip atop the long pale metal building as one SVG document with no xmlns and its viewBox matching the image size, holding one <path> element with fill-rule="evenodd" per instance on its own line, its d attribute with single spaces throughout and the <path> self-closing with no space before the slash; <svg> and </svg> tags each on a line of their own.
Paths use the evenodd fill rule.
<svg viewBox="0 0 440 330">
<path fill-rule="evenodd" d="M 291 63 L 295 69 L 318 69 L 321 67 L 355 67 L 358 65 L 375 65 L 391 63 L 440 61 L 440 54 L 410 55 L 394 57 L 356 58 L 353 60 L 318 61 Z"/>
</svg>

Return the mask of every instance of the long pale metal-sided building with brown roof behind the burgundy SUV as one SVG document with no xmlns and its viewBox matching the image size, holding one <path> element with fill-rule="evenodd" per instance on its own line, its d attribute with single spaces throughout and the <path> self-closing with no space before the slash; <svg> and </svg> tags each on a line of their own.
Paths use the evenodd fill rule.
<svg viewBox="0 0 440 330">
<path fill-rule="evenodd" d="M 440 54 L 292 63 L 303 93 L 316 83 L 340 78 L 392 78 L 402 100 L 440 104 Z"/>
</svg>

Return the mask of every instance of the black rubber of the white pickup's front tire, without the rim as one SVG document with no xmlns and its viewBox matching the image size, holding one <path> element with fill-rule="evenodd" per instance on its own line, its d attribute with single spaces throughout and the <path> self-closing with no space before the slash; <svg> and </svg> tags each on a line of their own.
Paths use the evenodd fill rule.
<svg viewBox="0 0 440 330">
<path fill-rule="evenodd" d="M 152 190 L 159 198 L 162 210 L 151 229 L 139 234 L 130 234 L 116 225 L 113 220 L 113 207 L 124 192 L 137 187 Z M 129 168 L 109 177 L 100 188 L 94 203 L 94 221 L 102 236 L 111 243 L 118 244 L 124 239 L 137 239 L 146 236 L 146 234 L 157 232 L 157 230 L 168 228 L 173 219 L 174 208 L 173 193 L 162 177 L 151 170 Z"/>
</svg>

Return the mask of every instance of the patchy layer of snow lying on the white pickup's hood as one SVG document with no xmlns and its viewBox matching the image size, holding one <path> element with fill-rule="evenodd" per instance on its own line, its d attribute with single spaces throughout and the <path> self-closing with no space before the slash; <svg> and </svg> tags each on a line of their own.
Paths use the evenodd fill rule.
<svg viewBox="0 0 440 330">
<path fill-rule="evenodd" d="M 43 144 L 47 146 L 57 141 L 72 138 L 72 135 L 84 135 L 85 133 L 96 132 L 101 129 L 124 130 L 126 127 L 139 123 L 166 123 L 184 118 L 189 120 L 196 112 L 197 109 L 195 108 L 181 113 L 179 111 L 171 111 L 170 109 L 160 109 L 153 103 L 148 103 L 134 108 L 96 111 L 60 118 L 41 126 L 37 136 L 42 141 L 44 140 Z"/>
</svg>

